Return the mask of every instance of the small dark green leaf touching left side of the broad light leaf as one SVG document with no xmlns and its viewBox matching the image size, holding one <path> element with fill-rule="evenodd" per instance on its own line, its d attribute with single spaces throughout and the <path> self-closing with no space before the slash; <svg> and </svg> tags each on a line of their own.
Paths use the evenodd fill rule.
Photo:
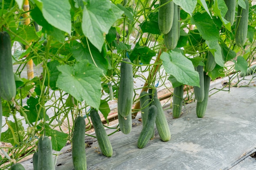
<svg viewBox="0 0 256 170">
<path fill-rule="evenodd" d="M 56 90 L 56 81 L 58 79 L 58 75 L 60 72 L 57 69 L 57 66 L 59 66 L 60 63 L 58 60 L 54 60 L 47 63 L 47 68 L 49 69 L 49 76 L 46 75 L 45 77 L 45 86 L 48 86 L 49 81 L 49 87 L 52 88 L 52 90 Z"/>
</svg>

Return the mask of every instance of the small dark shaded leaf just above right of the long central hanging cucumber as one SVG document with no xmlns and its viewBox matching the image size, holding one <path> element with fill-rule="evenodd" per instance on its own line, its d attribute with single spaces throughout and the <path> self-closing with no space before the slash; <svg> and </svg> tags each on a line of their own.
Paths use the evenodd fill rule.
<svg viewBox="0 0 256 170">
<path fill-rule="evenodd" d="M 143 64 L 150 64 L 150 61 L 155 54 L 155 51 L 147 46 L 139 46 L 136 44 L 130 53 L 130 60 L 133 63 L 137 63 L 136 61 L 140 60 Z"/>
</svg>

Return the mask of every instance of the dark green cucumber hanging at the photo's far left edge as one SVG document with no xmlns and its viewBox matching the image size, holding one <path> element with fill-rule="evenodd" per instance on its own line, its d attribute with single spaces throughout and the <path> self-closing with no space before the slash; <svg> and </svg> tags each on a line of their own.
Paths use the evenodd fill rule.
<svg viewBox="0 0 256 170">
<path fill-rule="evenodd" d="M 0 96 L 11 101 L 16 96 L 11 56 L 11 38 L 7 32 L 0 32 Z"/>
</svg>

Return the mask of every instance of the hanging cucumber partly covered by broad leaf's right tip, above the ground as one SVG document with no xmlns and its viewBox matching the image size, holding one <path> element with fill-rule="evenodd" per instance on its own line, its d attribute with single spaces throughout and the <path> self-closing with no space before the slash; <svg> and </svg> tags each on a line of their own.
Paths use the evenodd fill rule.
<svg viewBox="0 0 256 170">
<path fill-rule="evenodd" d="M 204 99 L 204 70 L 203 70 L 203 66 L 197 66 L 196 71 L 199 74 L 200 87 L 194 86 L 194 94 L 195 94 L 195 99 L 198 102 L 202 102 Z"/>
</svg>

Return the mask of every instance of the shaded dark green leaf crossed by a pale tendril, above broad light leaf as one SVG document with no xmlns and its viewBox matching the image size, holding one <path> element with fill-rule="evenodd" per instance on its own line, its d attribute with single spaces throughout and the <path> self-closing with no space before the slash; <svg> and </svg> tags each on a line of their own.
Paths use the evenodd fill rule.
<svg viewBox="0 0 256 170">
<path fill-rule="evenodd" d="M 105 74 L 108 69 L 108 60 L 92 44 L 90 45 L 90 51 L 88 46 L 84 47 L 81 43 L 76 41 L 74 41 L 74 44 L 71 47 L 71 53 L 77 61 L 88 60 L 90 64 L 94 64 L 90 52 L 92 53 L 94 62 L 103 70 L 103 73 Z"/>
</svg>

